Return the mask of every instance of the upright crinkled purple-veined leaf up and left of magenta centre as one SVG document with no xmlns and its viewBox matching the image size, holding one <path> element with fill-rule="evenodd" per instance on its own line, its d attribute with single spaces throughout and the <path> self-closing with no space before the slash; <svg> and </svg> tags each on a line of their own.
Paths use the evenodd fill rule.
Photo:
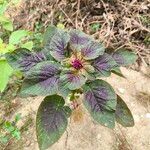
<svg viewBox="0 0 150 150">
<path fill-rule="evenodd" d="M 70 36 L 67 32 L 58 30 L 57 33 L 51 38 L 50 43 L 46 46 L 46 48 L 57 61 L 61 61 L 68 53 L 66 48 L 69 40 Z"/>
</svg>

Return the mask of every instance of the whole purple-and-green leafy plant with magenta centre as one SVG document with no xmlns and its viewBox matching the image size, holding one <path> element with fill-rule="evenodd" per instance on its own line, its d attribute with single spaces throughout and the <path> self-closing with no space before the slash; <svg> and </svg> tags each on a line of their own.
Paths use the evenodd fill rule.
<svg viewBox="0 0 150 150">
<path fill-rule="evenodd" d="M 108 54 L 100 42 L 80 30 L 50 26 L 40 51 L 17 49 L 6 57 L 24 73 L 21 95 L 47 96 L 37 113 L 40 149 L 51 146 L 65 131 L 71 111 L 65 100 L 74 102 L 76 93 L 83 93 L 83 103 L 98 123 L 109 128 L 114 128 L 115 121 L 133 126 L 127 105 L 102 78 L 111 72 L 122 76 L 119 67 L 134 63 L 134 53 L 120 49 Z"/>
</svg>

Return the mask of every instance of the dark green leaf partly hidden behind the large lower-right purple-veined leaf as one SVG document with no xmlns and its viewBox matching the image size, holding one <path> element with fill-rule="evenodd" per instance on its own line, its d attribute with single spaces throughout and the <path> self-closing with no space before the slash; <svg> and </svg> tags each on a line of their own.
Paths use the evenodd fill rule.
<svg viewBox="0 0 150 150">
<path fill-rule="evenodd" d="M 117 95 L 116 121 L 124 127 L 133 127 L 134 119 L 126 103 Z"/>
</svg>

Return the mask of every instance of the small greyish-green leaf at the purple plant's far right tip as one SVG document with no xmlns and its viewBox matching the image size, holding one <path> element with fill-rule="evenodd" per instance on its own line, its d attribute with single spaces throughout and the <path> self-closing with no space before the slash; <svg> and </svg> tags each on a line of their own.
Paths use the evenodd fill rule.
<svg viewBox="0 0 150 150">
<path fill-rule="evenodd" d="M 120 49 L 114 52 L 113 58 L 119 66 L 127 66 L 133 64 L 136 61 L 137 55 L 128 50 Z"/>
</svg>

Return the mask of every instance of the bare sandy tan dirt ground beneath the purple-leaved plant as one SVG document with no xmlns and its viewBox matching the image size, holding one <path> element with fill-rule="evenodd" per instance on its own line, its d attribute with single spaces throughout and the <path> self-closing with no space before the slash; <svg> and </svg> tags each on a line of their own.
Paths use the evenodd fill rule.
<svg viewBox="0 0 150 150">
<path fill-rule="evenodd" d="M 114 130 L 103 127 L 91 119 L 82 105 L 73 113 L 67 131 L 50 150 L 149 150 L 150 149 L 150 68 L 144 73 L 122 68 L 126 79 L 112 75 L 106 80 L 124 99 L 131 109 L 135 126 L 124 128 L 116 124 Z M 18 126 L 25 123 L 27 117 L 32 123 L 23 133 L 19 142 L 12 142 L 7 150 L 38 150 L 35 132 L 35 116 L 42 97 L 16 99 L 21 107 L 22 119 Z"/>
</svg>

